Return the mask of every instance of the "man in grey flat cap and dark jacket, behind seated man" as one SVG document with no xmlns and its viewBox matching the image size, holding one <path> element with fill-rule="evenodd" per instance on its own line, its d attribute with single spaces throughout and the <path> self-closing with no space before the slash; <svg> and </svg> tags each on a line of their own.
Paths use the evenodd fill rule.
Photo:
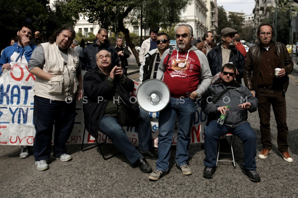
<svg viewBox="0 0 298 198">
<path fill-rule="evenodd" d="M 236 81 L 241 84 L 245 58 L 234 46 L 235 34 L 238 32 L 232 28 L 223 28 L 220 32 L 222 41 L 207 54 L 212 76 L 218 74 L 224 64 L 231 62 L 237 68 Z"/>
</svg>

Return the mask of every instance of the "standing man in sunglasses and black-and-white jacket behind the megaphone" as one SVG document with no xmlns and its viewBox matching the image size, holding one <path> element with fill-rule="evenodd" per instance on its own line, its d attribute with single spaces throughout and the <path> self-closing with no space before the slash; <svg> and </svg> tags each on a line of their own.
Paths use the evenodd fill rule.
<svg viewBox="0 0 298 198">
<path fill-rule="evenodd" d="M 156 72 L 162 54 L 165 52 L 166 49 L 169 49 L 169 35 L 164 32 L 157 33 L 156 44 L 157 48 L 149 51 L 146 54 L 144 61 L 142 62 L 139 75 L 140 83 L 148 79 L 156 79 Z"/>
</svg>

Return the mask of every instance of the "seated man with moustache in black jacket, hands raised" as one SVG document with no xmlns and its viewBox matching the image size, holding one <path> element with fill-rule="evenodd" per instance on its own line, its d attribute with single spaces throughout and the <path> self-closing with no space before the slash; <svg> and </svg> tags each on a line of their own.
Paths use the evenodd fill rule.
<svg viewBox="0 0 298 198">
<path fill-rule="evenodd" d="M 115 147 L 123 153 L 132 166 L 138 166 L 142 172 L 152 172 L 146 158 L 157 159 L 154 153 L 150 118 L 148 112 L 139 109 L 136 101 L 130 100 L 133 80 L 123 75 L 121 67 L 111 66 L 111 53 L 101 50 L 96 54 L 97 67 L 84 75 L 84 122 L 87 131 L 98 138 L 98 131 L 106 134 Z M 139 151 L 130 142 L 124 129 L 119 124 L 116 105 L 125 103 L 118 96 L 127 96 L 129 105 L 137 108 Z M 122 98 L 123 99 L 123 98 Z M 118 100 L 118 101 L 117 101 Z M 127 101 L 126 101 L 127 103 Z"/>
</svg>

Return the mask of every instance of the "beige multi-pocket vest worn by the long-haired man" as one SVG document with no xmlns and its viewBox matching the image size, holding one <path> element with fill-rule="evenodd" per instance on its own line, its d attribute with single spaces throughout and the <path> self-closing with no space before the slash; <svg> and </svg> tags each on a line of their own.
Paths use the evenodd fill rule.
<svg viewBox="0 0 298 198">
<path fill-rule="evenodd" d="M 79 57 L 74 49 L 68 48 L 68 61 L 64 65 L 64 58 L 56 43 L 42 43 L 45 63 L 43 71 L 52 74 L 50 80 L 36 78 L 34 95 L 52 100 L 67 101 L 75 99 L 79 82 L 76 70 L 79 67 Z"/>
</svg>

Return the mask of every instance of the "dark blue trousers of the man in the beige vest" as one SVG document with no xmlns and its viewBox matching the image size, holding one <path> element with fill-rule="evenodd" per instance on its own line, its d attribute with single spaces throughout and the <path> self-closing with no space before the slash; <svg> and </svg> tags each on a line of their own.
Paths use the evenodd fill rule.
<svg viewBox="0 0 298 198">
<path fill-rule="evenodd" d="M 51 156 L 53 125 L 56 157 L 66 153 L 65 144 L 75 123 L 75 100 L 70 103 L 34 96 L 34 127 L 36 130 L 33 155 L 35 161 L 47 160 Z"/>
</svg>

